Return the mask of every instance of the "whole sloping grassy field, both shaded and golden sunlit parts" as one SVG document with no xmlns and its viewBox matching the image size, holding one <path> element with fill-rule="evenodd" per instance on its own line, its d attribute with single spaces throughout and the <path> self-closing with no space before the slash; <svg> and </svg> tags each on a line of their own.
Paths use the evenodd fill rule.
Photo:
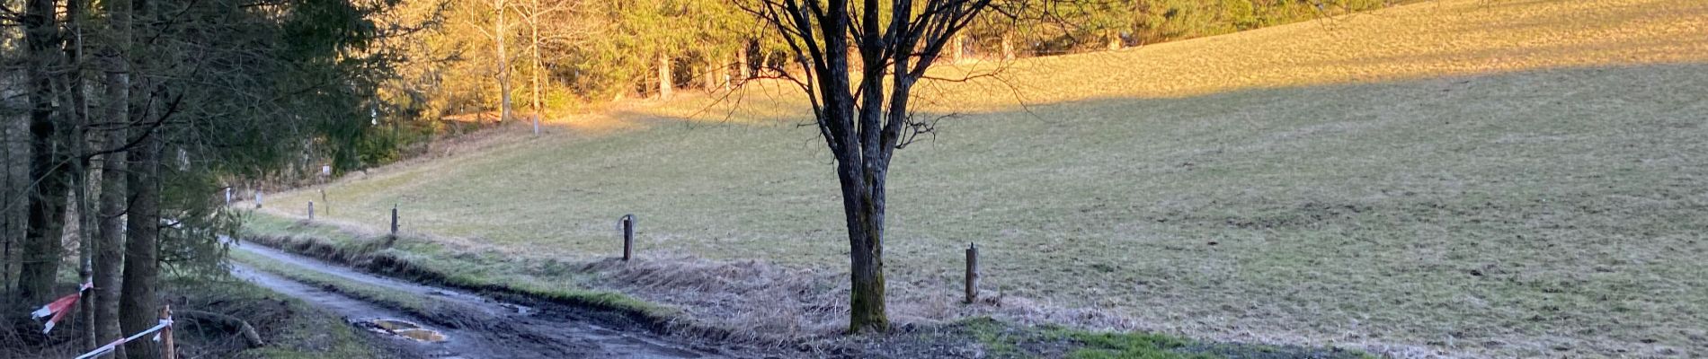
<svg viewBox="0 0 1708 359">
<path fill-rule="evenodd" d="M 991 70 L 931 85 L 927 109 L 965 114 L 897 155 L 886 264 L 907 320 L 968 311 L 960 250 L 977 242 L 1003 296 L 989 311 L 1038 322 L 1392 356 L 1708 356 L 1708 3 L 1442 0 L 939 73 Z M 798 97 L 709 99 L 499 134 L 268 211 L 316 201 L 383 230 L 398 204 L 405 230 L 459 252 L 424 257 L 564 282 L 598 281 L 529 260 L 601 267 L 634 213 L 646 259 L 840 284 L 835 177 Z M 844 299 L 825 291 L 801 299 L 832 308 L 818 322 Z"/>
</svg>

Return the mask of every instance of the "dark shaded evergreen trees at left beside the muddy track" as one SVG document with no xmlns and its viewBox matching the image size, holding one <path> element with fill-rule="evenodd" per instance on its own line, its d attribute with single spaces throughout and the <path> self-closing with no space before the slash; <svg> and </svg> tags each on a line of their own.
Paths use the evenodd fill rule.
<svg viewBox="0 0 1708 359">
<path fill-rule="evenodd" d="M 73 330 L 0 344 L 92 349 L 154 327 L 164 276 L 224 272 L 222 189 L 350 168 L 384 143 L 395 116 L 371 109 L 401 58 L 383 43 L 420 27 L 379 15 L 395 5 L 0 2 L 0 328 L 34 333 L 20 313 L 94 284 Z"/>
</svg>

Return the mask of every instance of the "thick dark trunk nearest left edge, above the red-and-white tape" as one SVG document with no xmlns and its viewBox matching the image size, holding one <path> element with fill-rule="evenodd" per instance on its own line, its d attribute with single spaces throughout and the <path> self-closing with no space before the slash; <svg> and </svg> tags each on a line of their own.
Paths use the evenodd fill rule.
<svg viewBox="0 0 1708 359">
<path fill-rule="evenodd" d="M 31 170 L 36 182 L 29 191 L 29 218 L 26 219 L 24 252 L 19 265 L 19 298 L 26 303 L 46 303 L 53 298 L 53 276 L 60 271 L 60 235 L 65 225 L 67 184 L 63 146 L 65 129 L 53 119 L 53 73 L 60 65 L 58 26 L 55 26 L 53 0 L 29 0 L 24 15 L 24 44 L 29 56 L 29 133 Z"/>
</svg>

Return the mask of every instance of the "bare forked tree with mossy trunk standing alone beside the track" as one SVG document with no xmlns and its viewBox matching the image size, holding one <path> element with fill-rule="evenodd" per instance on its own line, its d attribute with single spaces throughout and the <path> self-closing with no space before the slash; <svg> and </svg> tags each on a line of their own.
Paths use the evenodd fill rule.
<svg viewBox="0 0 1708 359">
<path fill-rule="evenodd" d="M 748 0 L 743 7 L 769 22 L 806 70 L 796 83 L 835 157 L 849 230 L 849 332 L 888 330 L 883 219 L 890 158 L 933 128 L 907 107 L 910 90 L 992 0 Z M 851 54 L 857 61 L 851 63 Z"/>
</svg>

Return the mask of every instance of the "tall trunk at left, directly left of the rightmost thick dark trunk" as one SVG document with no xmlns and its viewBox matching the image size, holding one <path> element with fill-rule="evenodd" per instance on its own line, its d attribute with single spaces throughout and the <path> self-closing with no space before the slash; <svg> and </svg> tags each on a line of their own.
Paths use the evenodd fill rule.
<svg viewBox="0 0 1708 359">
<path fill-rule="evenodd" d="M 106 107 L 101 117 L 108 124 L 106 148 L 123 146 L 130 141 L 130 65 L 126 49 L 130 48 L 130 0 L 108 0 L 108 26 L 113 44 L 102 58 L 106 68 L 104 92 Z M 96 342 L 113 342 L 123 335 L 118 325 L 120 301 L 120 265 L 125 262 L 125 174 L 128 151 L 116 151 L 101 157 L 101 209 L 96 228 L 96 262 L 94 262 L 94 316 Z M 123 357 L 120 347 L 113 357 Z"/>
</svg>

